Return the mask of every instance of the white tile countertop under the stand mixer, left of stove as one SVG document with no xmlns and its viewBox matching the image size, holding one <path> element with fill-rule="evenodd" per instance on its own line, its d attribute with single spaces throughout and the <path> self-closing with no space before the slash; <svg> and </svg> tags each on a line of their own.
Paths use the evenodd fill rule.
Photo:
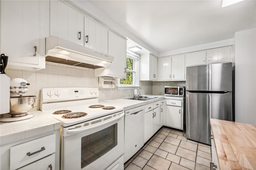
<svg viewBox="0 0 256 170">
<path fill-rule="evenodd" d="M 30 111 L 34 117 L 21 121 L 0 122 L 0 144 L 27 139 L 60 129 L 60 121 L 42 113 Z"/>
</svg>

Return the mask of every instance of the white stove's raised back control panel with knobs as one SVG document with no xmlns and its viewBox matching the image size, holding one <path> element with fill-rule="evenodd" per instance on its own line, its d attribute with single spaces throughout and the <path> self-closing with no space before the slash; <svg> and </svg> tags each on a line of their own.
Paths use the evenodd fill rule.
<svg viewBox="0 0 256 170">
<path fill-rule="evenodd" d="M 98 98 L 98 88 L 43 88 L 41 102 L 60 102 Z"/>
</svg>

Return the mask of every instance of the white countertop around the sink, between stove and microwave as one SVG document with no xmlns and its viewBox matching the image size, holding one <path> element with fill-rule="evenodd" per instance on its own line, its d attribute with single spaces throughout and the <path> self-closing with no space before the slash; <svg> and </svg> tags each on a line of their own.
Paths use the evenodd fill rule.
<svg viewBox="0 0 256 170">
<path fill-rule="evenodd" d="M 141 95 L 141 96 L 150 96 L 150 97 L 158 97 L 150 100 L 130 100 L 128 98 L 121 98 L 121 99 L 114 99 L 114 100 L 105 100 L 105 101 L 100 101 L 100 104 L 104 105 L 118 105 L 120 107 L 123 107 L 124 110 L 132 109 L 135 107 L 143 106 L 152 102 L 157 102 L 158 100 L 164 99 L 164 96 L 159 96 L 159 95 Z M 129 97 L 130 98 L 130 97 Z"/>
</svg>

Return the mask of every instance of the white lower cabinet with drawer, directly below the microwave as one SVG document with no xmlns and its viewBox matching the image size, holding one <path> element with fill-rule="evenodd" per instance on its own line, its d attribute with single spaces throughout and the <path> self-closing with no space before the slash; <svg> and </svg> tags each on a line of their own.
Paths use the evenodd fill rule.
<svg viewBox="0 0 256 170">
<path fill-rule="evenodd" d="M 166 126 L 184 130 L 183 102 L 181 100 L 166 100 Z"/>
</svg>

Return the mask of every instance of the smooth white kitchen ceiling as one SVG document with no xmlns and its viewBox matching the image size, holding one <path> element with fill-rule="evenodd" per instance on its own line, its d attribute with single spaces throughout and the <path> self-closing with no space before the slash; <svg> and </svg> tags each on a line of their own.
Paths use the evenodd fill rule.
<svg viewBox="0 0 256 170">
<path fill-rule="evenodd" d="M 90 0 L 158 53 L 232 39 L 256 27 L 256 0 Z M 129 37 L 128 37 L 129 38 Z M 128 46 L 136 45 L 128 40 Z M 140 53 L 140 52 L 138 52 Z"/>
</svg>

